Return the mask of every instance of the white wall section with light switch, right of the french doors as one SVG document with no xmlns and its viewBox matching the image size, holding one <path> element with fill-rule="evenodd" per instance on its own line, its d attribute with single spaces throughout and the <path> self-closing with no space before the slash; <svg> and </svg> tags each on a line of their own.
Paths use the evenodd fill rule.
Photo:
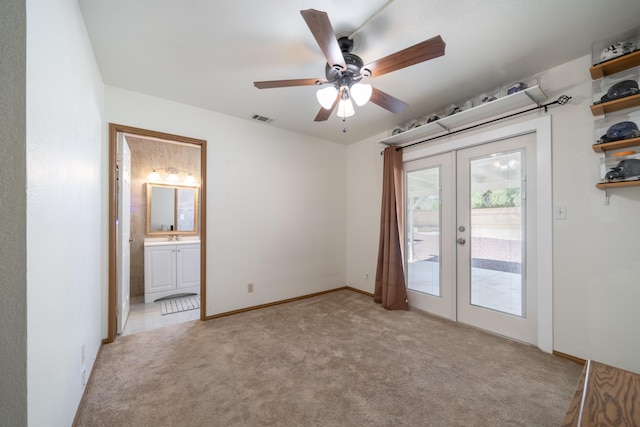
<svg viewBox="0 0 640 427">
<path fill-rule="evenodd" d="M 640 187 L 595 188 L 590 58 L 548 73 L 578 105 L 553 110 L 553 198 L 568 219 L 554 221 L 555 349 L 640 372 Z"/>
</svg>

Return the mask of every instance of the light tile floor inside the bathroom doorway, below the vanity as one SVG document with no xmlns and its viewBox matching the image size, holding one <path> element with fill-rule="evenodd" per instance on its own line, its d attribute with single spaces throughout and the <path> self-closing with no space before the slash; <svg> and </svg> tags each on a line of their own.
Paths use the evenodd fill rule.
<svg viewBox="0 0 640 427">
<path fill-rule="evenodd" d="M 198 319 L 200 319 L 200 309 L 181 311 L 163 316 L 160 312 L 160 303 L 149 302 L 145 304 L 144 297 L 133 297 L 131 298 L 129 318 L 120 336 L 133 335 Z"/>
</svg>

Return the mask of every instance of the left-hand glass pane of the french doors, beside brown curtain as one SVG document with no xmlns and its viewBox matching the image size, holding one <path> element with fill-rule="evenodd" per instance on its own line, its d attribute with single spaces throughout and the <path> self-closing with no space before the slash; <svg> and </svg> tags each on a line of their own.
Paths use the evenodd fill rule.
<svg viewBox="0 0 640 427">
<path fill-rule="evenodd" d="M 407 173 L 407 287 L 441 296 L 440 168 Z"/>
</svg>

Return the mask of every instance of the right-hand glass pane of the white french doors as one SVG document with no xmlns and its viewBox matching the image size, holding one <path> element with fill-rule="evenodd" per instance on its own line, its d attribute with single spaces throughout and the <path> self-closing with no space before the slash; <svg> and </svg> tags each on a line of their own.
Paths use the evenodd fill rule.
<svg viewBox="0 0 640 427">
<path fill-rule="evenodd" d="M 523 153 L 470 161 L 471 304 L 523 313 Z"/>
</svg>

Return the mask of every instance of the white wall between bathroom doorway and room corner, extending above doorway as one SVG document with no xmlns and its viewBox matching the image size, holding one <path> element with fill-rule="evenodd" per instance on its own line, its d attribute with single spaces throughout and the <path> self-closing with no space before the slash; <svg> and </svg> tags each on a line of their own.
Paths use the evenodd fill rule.
<svg viewBox="0 0 640 427">
<path fill-rule="evenodd" d="M 207 141 L 207 315 L 345 286 L 346 147 L 109 86 L 105 113 Z"/>
</svg>

